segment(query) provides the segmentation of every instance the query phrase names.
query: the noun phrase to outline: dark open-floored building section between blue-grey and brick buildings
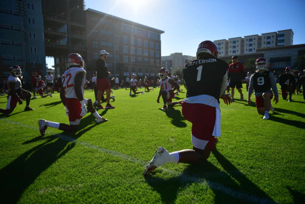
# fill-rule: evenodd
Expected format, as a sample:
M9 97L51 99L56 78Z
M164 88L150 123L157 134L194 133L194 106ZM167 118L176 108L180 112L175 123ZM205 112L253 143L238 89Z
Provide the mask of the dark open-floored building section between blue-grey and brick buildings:
M54 57L55 75L67 69L71 53L87 56L83 0L42 0L45 55ZM86 65L85 65L86 66Z

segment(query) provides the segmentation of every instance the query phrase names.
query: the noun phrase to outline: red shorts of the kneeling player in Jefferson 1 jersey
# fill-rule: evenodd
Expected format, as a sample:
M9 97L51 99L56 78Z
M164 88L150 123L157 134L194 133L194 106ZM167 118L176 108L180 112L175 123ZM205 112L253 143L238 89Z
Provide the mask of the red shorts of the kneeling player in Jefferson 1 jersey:
M216 108L201 103L182 101L182 115L192 123L192 135L197 139L209 141L210 150L214 149L215 137L212 135L216 120Z

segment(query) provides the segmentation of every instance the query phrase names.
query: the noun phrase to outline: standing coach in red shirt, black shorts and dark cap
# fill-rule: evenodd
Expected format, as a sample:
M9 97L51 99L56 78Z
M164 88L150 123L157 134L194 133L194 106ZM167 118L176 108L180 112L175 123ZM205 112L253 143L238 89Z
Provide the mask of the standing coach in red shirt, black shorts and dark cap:
M244 100L244 95L242 94L242 81L246 77L246 72L244 65L237 61L237 56L234 55L232 56L232 64L229 65L229 70L228 70L228 78L230 78L230 88L231 94L232 94L232 101L234 101L234 88L236 86L236 89L240 93L240 100Z

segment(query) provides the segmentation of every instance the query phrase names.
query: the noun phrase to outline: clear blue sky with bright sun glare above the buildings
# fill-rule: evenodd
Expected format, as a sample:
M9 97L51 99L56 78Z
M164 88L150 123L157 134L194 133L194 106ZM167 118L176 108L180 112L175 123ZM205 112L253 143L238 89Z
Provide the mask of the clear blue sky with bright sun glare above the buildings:
M85 0L85 4L86 9L164 31L161 56L175 52L196 56L204 40L287 29L294 32L294 45L305 43L304 0Z

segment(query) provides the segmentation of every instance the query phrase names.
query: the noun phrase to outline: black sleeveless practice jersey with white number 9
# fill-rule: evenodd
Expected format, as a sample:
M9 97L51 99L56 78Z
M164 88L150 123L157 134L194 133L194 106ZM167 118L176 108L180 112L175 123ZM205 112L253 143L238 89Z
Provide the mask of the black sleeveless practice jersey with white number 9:
M253 74L253 82L254 82L254 91L255 92L265 92L271 90L271 83L270 83L270 72L264 71L262 74L260 72L255 72Z

